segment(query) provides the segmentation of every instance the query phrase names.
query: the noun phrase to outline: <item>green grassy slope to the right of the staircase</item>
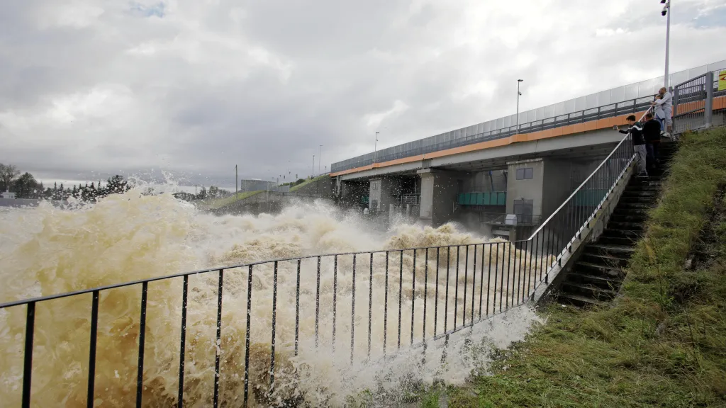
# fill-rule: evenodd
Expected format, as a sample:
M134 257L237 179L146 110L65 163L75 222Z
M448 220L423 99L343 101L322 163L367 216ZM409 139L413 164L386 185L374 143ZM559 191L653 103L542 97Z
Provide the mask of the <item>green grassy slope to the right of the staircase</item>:
M699 243L724 183L726 129L685 135L623 297L596 311L550 306L492 376L446 390L449 407L726 406L726 217ZM696 246L710 264L684 269ZM436 407L436 393L421 405Z

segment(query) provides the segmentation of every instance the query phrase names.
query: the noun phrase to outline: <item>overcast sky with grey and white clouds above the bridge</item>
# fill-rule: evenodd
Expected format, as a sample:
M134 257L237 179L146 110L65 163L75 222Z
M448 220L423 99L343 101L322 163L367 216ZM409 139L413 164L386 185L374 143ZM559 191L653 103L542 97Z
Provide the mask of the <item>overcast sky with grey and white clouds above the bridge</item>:
M662 75L658 0L10 0L0 163L269 179ZM723 0L678 0L672 72L726 59ZM89 174L92 174L89 176Z

